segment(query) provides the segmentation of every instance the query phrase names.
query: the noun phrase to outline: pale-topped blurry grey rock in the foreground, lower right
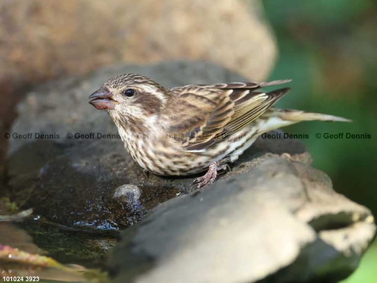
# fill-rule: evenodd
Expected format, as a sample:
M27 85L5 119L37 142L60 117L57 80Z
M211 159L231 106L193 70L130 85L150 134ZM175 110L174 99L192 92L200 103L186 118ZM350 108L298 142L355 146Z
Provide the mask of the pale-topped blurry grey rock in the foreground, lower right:
M166 201L121 233L112 282L337 282L374 238L371 212L307 164L268 158Z

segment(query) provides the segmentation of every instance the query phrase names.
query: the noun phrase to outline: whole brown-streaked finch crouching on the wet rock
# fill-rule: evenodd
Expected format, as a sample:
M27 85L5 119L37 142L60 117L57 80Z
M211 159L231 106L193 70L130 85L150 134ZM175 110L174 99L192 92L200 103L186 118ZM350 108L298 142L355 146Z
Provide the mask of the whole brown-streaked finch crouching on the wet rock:
M107 110L126 151L134 161L164 176L206 171L194 188L213 184L218 171L229 169L258 136L300 121L349 119L272 107L291 88L269 92L264 83L220 83L165 88L138 74L109 79L89 96L98 110Z

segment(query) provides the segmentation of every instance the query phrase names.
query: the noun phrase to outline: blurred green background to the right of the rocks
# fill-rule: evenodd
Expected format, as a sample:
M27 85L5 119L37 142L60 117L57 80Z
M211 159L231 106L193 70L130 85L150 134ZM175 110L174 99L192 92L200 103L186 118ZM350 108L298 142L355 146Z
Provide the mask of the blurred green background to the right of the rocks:
M313 166L334 189L377 215L377 2L264 0L277 37L279 60L270 79L293 79L279 107L331 113L352 123L300 123ZM370 134L371 139L316 139L315 134ZM343 283L377 281L377 242Z

